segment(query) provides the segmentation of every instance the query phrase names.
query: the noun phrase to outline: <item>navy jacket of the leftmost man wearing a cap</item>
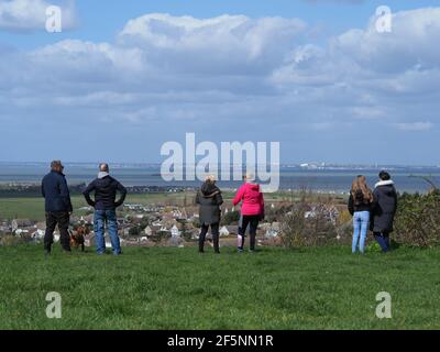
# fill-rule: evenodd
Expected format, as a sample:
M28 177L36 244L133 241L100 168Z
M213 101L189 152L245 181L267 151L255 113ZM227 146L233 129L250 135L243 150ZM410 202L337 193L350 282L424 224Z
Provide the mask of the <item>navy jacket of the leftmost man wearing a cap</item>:
M62 173L51 172L42 182L42 195L46 212L72 212L70 194L66 177Z

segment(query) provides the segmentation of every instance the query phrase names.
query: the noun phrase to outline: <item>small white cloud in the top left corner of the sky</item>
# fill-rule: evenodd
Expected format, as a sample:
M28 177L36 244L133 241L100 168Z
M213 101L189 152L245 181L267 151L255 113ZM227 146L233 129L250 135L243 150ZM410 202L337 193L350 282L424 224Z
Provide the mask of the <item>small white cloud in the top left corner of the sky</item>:
M74 0L0 0L0 31L43 31L46 9L54 4L62 8L63 29L72 29L76 22Z

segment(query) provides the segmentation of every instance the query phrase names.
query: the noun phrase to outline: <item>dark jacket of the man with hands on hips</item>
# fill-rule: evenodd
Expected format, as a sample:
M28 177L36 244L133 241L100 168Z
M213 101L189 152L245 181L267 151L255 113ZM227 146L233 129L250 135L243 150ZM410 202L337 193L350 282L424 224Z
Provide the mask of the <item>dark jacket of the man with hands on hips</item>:
M90 198L90 193L95 191L95 200ZM120 193L120 199L117 201L117 193ZM114 210L122 206L127 189L111 176L95 179L82 193L89 206L95 210Z

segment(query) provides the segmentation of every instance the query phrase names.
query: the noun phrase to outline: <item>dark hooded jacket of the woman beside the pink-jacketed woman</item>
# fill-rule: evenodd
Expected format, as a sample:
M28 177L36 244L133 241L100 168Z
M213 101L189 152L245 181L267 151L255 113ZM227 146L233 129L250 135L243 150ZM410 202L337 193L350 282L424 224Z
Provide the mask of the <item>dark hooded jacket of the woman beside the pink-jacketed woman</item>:
M200 206L199 221L201 226L220 223L220 206L223 204L223 197L218 187L204 184L201 189L197 193L196 204Z

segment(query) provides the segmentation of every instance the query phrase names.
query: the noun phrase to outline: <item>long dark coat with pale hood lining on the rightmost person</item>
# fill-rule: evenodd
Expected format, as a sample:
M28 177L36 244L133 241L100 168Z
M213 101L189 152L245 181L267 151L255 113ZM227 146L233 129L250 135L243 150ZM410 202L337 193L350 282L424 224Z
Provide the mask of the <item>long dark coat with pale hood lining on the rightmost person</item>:
M397 191L393 182L381 182L374 189L372 230L374 232L393 232L394 217L397 211Z

